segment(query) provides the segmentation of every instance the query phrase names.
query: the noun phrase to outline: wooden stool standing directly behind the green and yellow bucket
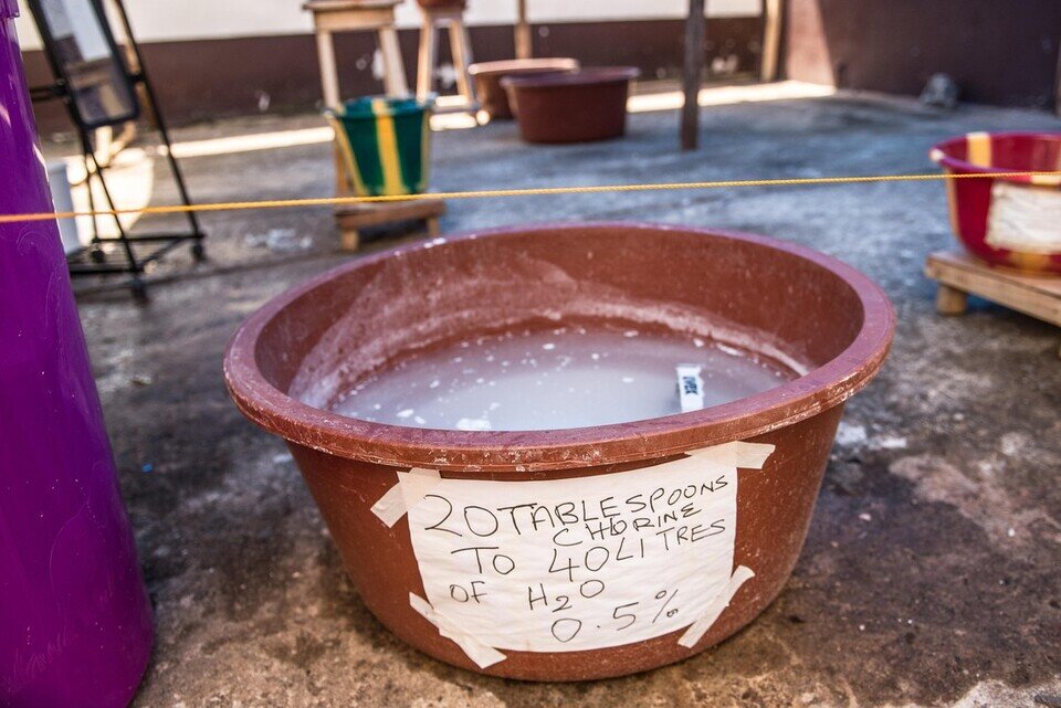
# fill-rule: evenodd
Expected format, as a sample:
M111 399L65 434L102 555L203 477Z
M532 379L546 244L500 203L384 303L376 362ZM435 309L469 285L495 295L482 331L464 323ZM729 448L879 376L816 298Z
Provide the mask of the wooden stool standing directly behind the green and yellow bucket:
M342 102L335 45L332 41L332 35L336 32L375 31L384 60L384 88L387 95L408 95L409 86L406 84L406 70L401 64L398 30L395 27L395 6L400 1L309 0L302 6L304 10L313 13L317 59L321 62L321 87L324 89L326 106L338 108Z

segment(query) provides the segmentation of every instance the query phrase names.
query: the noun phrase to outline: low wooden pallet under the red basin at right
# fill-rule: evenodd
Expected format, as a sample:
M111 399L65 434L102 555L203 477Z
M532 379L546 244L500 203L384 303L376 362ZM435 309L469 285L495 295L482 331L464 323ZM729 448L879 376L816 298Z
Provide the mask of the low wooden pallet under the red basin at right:
M936 310L960 315L969 295L977 295L1061 327L1061 277L1028 275L991 267L965 253L941 251L928 256L925 275L939 284ZM1061 350L1058 351L1061 357Z

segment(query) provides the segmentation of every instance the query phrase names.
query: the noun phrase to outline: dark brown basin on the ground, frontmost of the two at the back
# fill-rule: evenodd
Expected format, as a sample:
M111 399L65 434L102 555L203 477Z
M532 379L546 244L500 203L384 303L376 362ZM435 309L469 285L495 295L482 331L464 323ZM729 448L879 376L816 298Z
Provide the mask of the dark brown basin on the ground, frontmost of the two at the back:
M627 129L633 66L599 66L566 74L508 76L501 85L528 142L589 142Z

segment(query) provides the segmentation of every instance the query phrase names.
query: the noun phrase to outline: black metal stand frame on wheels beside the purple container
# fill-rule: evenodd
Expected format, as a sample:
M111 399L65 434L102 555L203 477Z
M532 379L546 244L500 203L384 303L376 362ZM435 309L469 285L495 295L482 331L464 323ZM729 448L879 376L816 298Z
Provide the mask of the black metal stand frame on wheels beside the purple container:
M140 47L137 44L136 39L133 36L133 29L129 25L129 18L125 11L125 6L123 4L122 0L113 0L113 2L117 10L118 19L122 22L122 30L125 34L126 47L127 52L129 53L128 59L130 66L128 67L128 78L134 88L134 96L136 96L141 104L146 104L144 107L148 109L155 127L158 129L162 145L165 145L166 159L169 163L170 173L174 176L174 182L177 186L177 192L180 196L180 201L186 207L190 207L191 198L188 194L188 188L185 183L183 172L180 170L177 158L174 157L172 144L169 139L169 130L166 127L166 120L162 118L162 113L158 107L158 102L155 97L155 88L151 86L151 82L147 75L147 70L144 66ZM40 21L38 21L38 24L40 24ZM56 65L56 57L53 56L52 53L46 50L46 47L45 54L48 55L49 63L52 66L53 74L55 76L62 76L62 72ZM143 94L140 94L137 88L143 89ZM73 104L73 101L70 97L65 82L61 78L57 78L50 86L34 87L31 89L31 97L33 101L62 98L63 103L66 104L70 117L73 120L74 126L77 128L77 134L81 139L81 150L85 162L85 188L88 190L88 208L93 212L96 212L96 200L92 189L93 180L95 179L99 184L106 202L104 204L104 211L114 211L115 203L111 197L111 190L107 187L107 180L105 177L108 166L101 165L96 160L92 145L92 129L86 127L81 120L81 116L78 115L76 106ZM133 295L139 299L146 298L147 283L144 279L144 274L149 263L158 261L186 241L191 241L191 254L197 263L204 261L207 257L206 249L202 244L202 240L206 239L207 234L202 231L199 224L198 215L192 211L186 212L185 215L188 219L189 230L187 232L149 232L132 235L128 233L125 226L122 225L119 216L117 214L113 214L111 218L114 219L114 224L117 229L118 235L101 236L98 223L99 216L93 213L92 244L87 250L87 255L91 263L78 263L77 261L80 254L72 255L69 261L71 275L78 276L128 273L130 275L129 289L133 292ZM120 245L122 253L124 255L124 262L107 262L106 253L103 251L103 245L107 243L117 243ZM135 246L148 244L161 245L158 245L146 254L137 254Z

